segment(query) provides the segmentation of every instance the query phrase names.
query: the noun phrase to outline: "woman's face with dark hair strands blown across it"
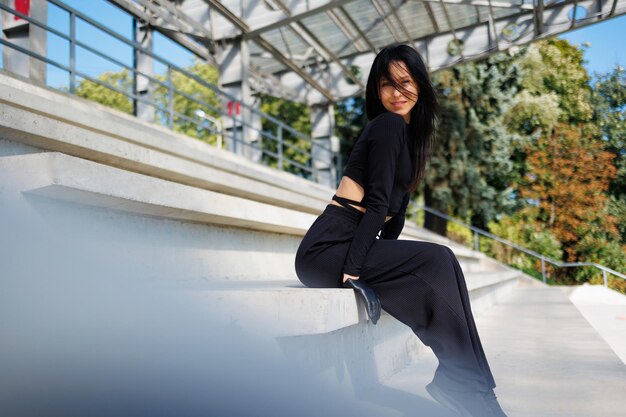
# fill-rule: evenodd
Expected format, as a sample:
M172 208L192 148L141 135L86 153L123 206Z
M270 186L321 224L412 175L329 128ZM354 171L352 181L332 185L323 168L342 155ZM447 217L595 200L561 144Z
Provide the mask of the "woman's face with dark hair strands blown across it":
M389 72L396 83L401 86L401 90L396 89L387 78L381 78L378 86L380 101L388 111L404 117L404 121L408 124L411 121L411 110L417 103L419 94L417 83L411 77L403 61L393 61L389 65Z

